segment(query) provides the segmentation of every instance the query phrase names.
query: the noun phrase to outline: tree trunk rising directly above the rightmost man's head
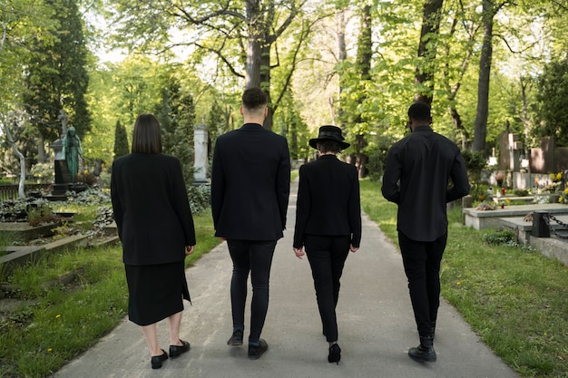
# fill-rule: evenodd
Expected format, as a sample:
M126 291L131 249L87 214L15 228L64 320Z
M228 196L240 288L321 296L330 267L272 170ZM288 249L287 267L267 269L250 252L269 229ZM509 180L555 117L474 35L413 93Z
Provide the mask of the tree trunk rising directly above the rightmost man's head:
M416 67L415 82L426 86L426 89L417 92L415 100L428 104L431 104L433 99L435 72L433 64L436 62L437 43L436 41L432 43L432 38L437 38L440 29L442 5L444 5L444 0L426 0L422 12L422 28L418 44L418 58L421 58L422 63Z

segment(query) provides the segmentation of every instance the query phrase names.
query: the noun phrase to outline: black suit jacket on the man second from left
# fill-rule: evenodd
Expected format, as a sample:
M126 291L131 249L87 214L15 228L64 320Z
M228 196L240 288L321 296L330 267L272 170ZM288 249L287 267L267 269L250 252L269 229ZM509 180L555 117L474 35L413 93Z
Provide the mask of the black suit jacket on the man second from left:
M215 236L240 240L283 237L290 160L286 138L246 123L217 138L211 172Z

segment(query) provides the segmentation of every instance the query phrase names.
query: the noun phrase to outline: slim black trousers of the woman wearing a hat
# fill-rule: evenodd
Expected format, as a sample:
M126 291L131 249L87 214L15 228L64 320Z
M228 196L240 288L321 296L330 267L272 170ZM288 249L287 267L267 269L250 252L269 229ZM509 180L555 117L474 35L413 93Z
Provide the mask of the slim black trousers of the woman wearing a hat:
M349 237L320 237L306 235L304 245L311 274L314 278L319 316L328 342L338 340L336 306L339 279L349 253Z

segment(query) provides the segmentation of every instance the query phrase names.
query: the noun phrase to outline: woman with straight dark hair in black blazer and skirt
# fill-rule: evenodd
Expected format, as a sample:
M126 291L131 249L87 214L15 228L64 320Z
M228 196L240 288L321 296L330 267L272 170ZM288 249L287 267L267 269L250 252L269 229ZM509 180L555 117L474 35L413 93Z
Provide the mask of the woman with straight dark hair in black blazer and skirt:
M190 300L184 259L195 230L180 160L162 154L160 123L141 114L134 123L132 153L113 161L113 214L122 241L128 284L128 316L142 328L152 369L168 359L156 323L168 318L170 357L190 350L180 340L183 299Z

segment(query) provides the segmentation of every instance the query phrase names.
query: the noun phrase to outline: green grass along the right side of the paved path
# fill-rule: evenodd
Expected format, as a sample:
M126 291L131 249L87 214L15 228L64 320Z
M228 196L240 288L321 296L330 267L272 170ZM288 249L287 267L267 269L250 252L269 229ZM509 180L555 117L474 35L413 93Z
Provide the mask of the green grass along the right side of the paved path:
M361 203L397 245L397 206L380 185L361 181ZM568 377L568 267L526 247L490 246L448 214L442 296L495 354L523 377Z

